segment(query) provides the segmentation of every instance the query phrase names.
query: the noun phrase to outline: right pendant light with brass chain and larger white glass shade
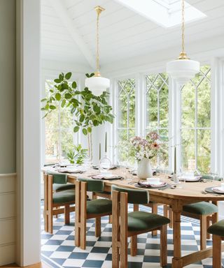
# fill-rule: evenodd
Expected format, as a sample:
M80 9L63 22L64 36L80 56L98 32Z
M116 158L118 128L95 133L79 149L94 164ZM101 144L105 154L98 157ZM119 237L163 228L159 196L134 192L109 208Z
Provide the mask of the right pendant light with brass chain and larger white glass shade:
M179 84L186 84L196 73L200 72L200 63L198 61L190 60L185 52L184 45L184 31L185 31L185 20L184 20L184 0L182 0L182 52L178 59L175 61L169 61L167 63L167 73L176 80Z

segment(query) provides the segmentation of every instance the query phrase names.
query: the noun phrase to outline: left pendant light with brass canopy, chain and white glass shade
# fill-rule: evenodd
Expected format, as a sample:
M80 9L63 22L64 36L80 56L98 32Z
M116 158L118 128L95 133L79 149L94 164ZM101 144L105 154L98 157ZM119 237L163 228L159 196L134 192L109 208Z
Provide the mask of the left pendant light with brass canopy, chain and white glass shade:
M99 15L105 9L101 6L96 6L94 10L97 11L97 71L93 77L85 79L85 87L92 91L95 96L100 96L106 89L110 87L110 80L102 77L99 73Z

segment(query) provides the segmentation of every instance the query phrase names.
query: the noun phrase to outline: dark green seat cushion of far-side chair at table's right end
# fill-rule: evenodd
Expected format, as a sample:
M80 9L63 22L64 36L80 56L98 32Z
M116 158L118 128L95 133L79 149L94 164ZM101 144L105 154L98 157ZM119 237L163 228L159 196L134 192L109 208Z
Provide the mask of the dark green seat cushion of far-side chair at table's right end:
M194 204L186 204L183 206L183 211L199 215L210 215L218 212L218 207L209 202L198 202Z

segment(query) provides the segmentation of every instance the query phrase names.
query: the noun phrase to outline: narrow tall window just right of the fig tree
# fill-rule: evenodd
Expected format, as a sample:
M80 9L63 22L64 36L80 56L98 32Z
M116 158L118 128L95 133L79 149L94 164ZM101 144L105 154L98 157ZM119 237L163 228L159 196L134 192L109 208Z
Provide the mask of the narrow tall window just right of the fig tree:
M133 161L128 141L135 135L135 80L118 81L117 137L118 162Z

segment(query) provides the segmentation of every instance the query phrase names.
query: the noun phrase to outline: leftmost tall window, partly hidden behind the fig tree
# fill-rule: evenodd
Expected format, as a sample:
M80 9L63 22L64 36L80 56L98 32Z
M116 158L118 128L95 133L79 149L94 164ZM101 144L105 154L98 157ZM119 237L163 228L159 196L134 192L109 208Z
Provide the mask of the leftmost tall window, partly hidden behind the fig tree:
M54 87L52 80L45 80L46 95ZM73 114L68 108L58 107L45 117L45 164L63 161L75 142Z

